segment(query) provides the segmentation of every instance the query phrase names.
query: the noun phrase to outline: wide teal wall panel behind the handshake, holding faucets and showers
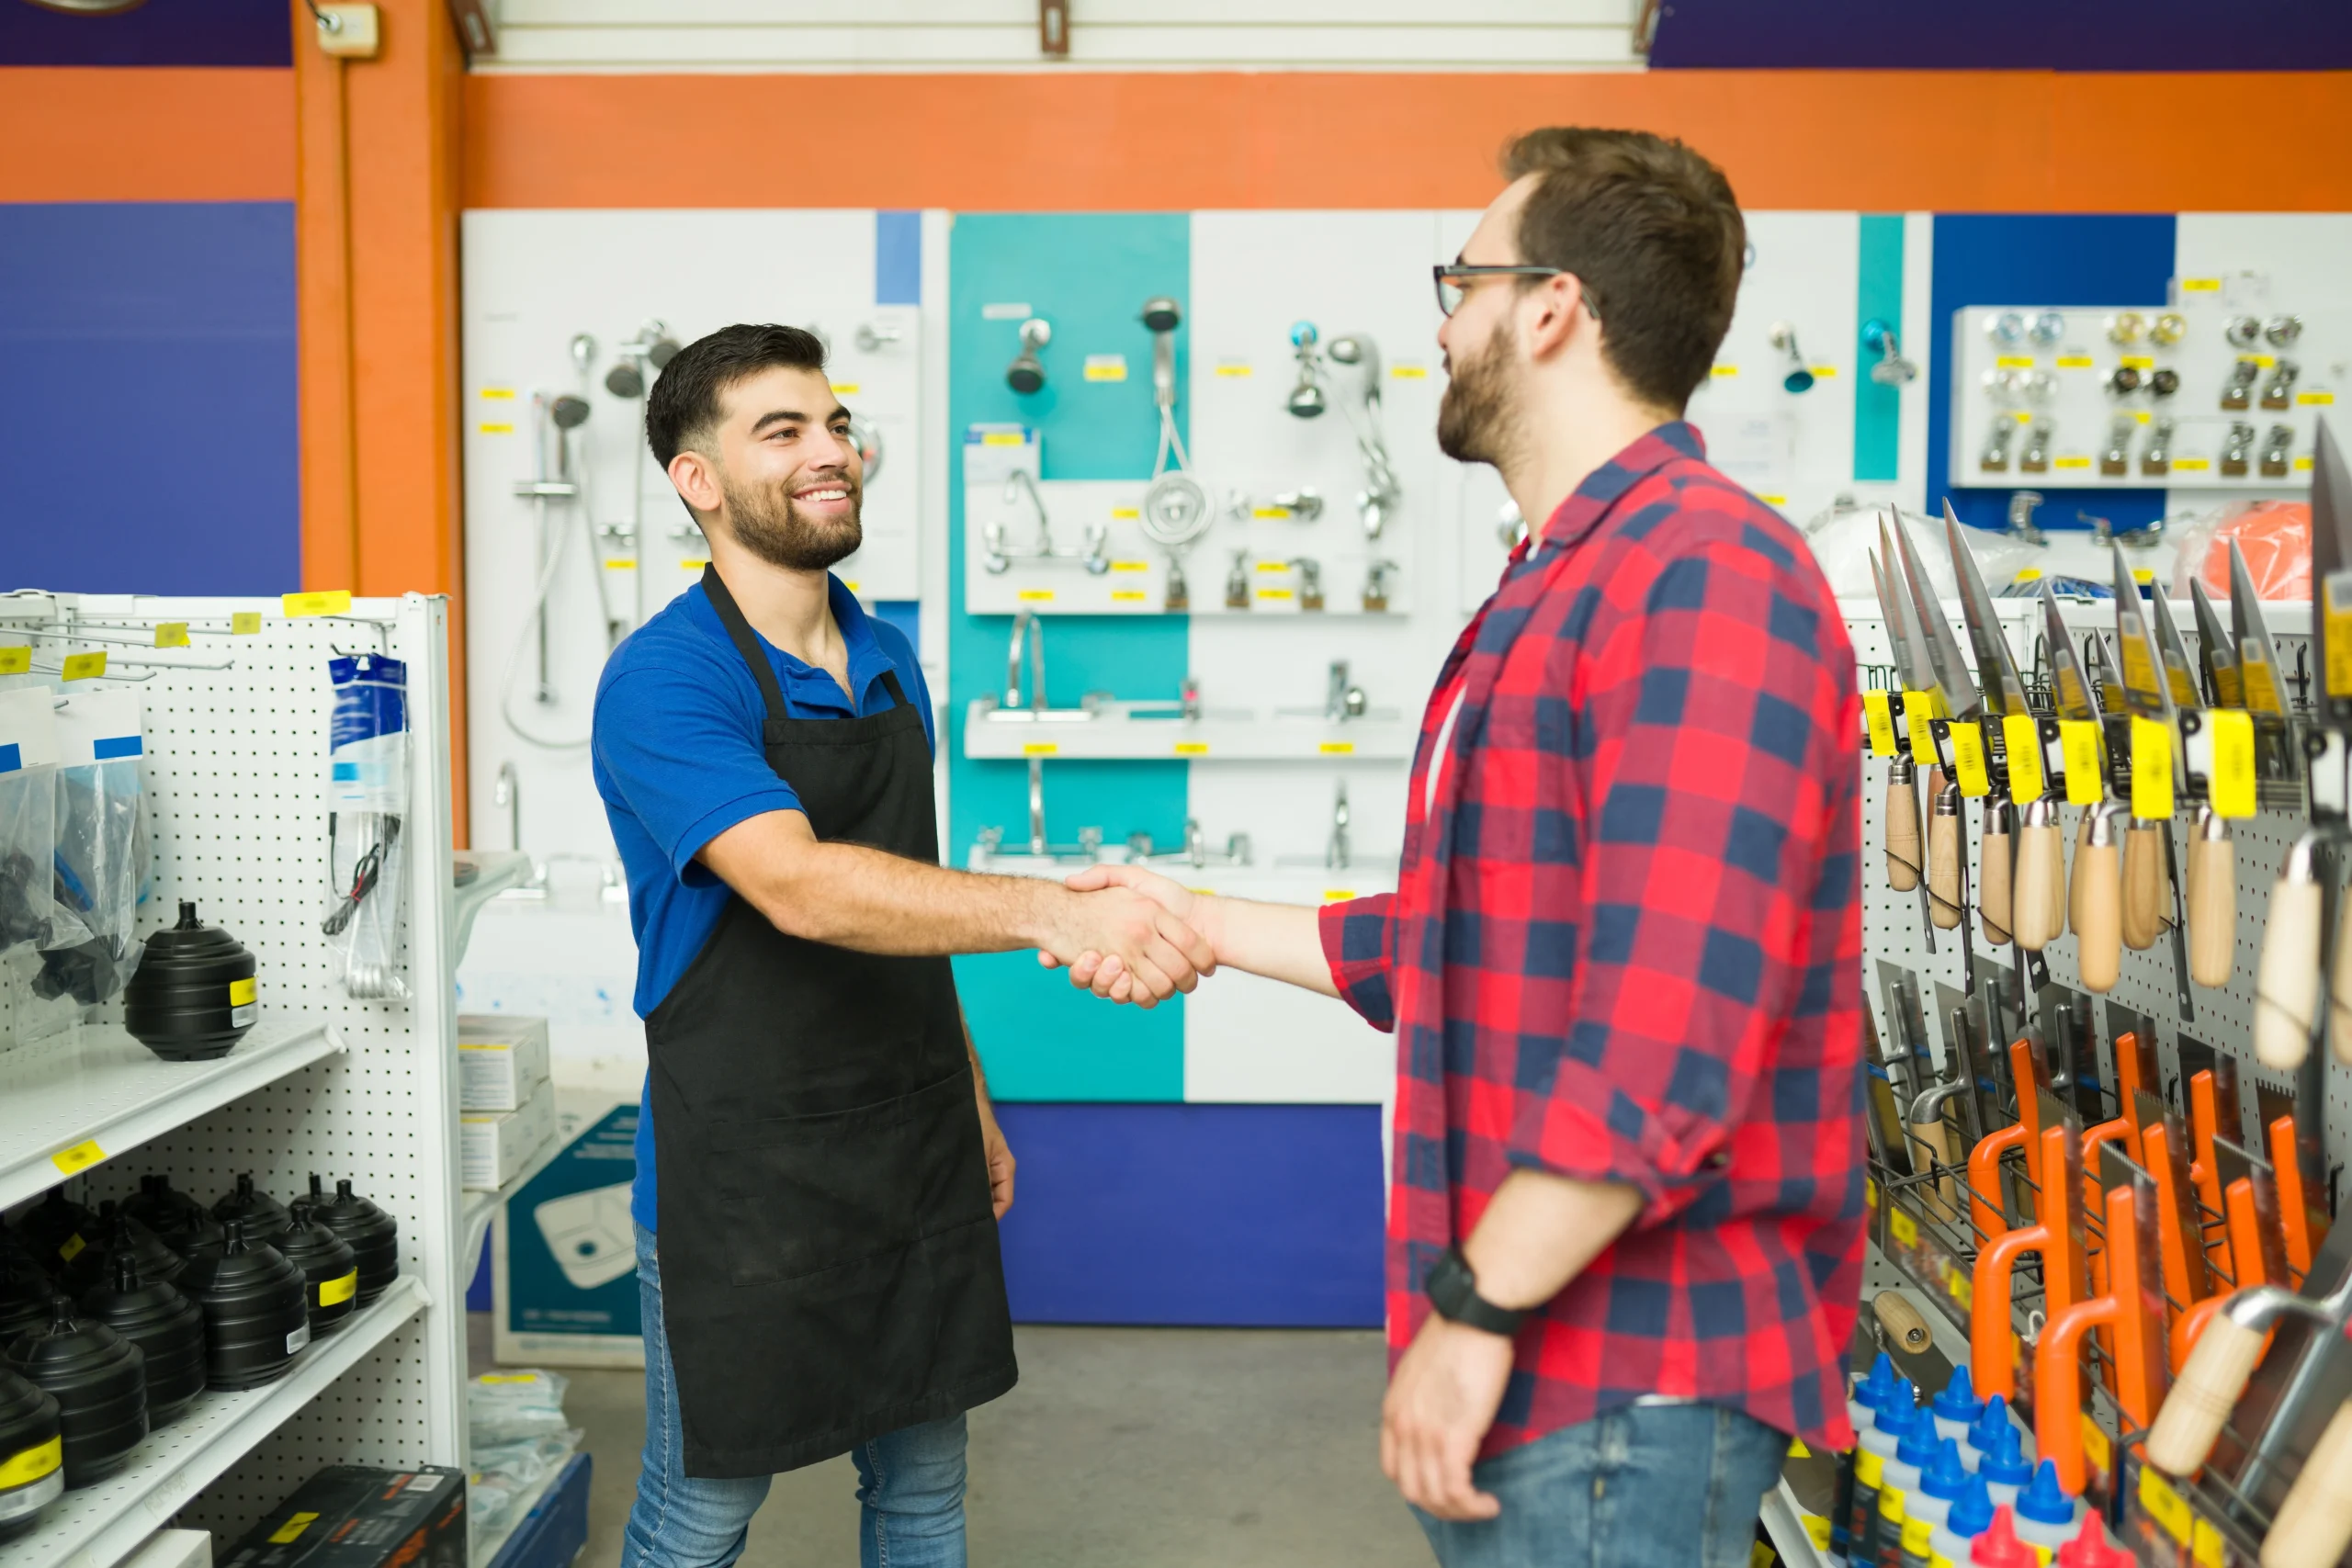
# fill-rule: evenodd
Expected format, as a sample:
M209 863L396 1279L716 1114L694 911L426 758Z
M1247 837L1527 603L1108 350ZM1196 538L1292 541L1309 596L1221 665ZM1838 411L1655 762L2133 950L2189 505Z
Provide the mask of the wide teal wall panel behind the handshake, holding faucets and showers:
M1160 423L1152 339L1138 317L1152 294L1190 310L1190 214L960 214L948 259L948 425L957 451L967 425L1018 421L1042 433L1047 480L1148 477ZM1004 386L1021 322L983 315L1016 301L1054 322L1047 386L1030 397ZM1178 329L1178 386L1188 341L1190 329ZM1124 355L1127 381L1087 381L1087 355ZM1028 766L964 757L964 705L1002 689L1011 616L964 614L960 458L948 475L948 853L960 865L981 827L1004 827L1009 842L1028 832ZM1174 696L1190 665L1183 616L1047 616L1044 628L1044 684L1056 705L1084 691ZM1185 771L1183 762L1049 762L1054 842L1075 842L1080 827L1101 827L1108 842L1129 832L1181 842ZM1181 997L1150 1013L1112 1009L1025 952L957 959L955 978L997 1095L1183 1098Z

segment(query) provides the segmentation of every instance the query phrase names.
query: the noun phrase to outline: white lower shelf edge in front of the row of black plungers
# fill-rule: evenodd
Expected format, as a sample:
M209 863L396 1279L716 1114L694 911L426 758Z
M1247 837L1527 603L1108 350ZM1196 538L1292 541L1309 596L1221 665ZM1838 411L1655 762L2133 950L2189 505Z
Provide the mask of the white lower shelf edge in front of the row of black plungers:
M143 1462L134 1450L125 1469L49 1505L78 1514L75 1502L103 1500L111 1505L106 1519L68 1516L49 1526L35 1523L28 1535L0 1547L0 1568L111 1568L120 1563L155 1530L172 1523L172 1516L188 1500L221 1479L261 1439L318 1399L329 1382L358 1366L360 1356L428 1305L423 1284L402 1274L341 1333L315 1342L278 1382L240 1394L202 1394L174 1425L146 1439L146 1443L172 1441L186 1436L191 1422L209 1422L214 1429L202 1443L186 1450L174 1443Z

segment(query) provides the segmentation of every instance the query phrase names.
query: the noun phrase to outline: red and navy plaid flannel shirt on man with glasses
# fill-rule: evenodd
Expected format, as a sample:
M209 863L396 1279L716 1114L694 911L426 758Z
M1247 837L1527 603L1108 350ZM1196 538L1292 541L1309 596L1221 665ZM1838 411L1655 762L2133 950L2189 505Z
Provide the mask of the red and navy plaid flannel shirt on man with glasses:
M1397 1030L1390 1359L1515 1166L1623 1182L1639 1218L1519 1328L1482 1455L1644 1394L1851 1446L1844 621L1797 529L1686 423L1597 468L1531 545L1421 719L1399 891L1322 912L1341 994Z

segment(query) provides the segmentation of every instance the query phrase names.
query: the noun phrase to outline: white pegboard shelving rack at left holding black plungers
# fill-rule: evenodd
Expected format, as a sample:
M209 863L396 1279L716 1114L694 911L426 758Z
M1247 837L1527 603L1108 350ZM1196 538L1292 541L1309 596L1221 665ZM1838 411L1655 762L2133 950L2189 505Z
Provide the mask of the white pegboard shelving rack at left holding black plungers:
M198 1396L115 1476L0 1544L0 1568L108 1568L174 1521L226 1547L322 1465L466 1462L447 602L289 614L303 597L0 599L0 644L31 642L35 670L103 649L101 679L141 693L153 851L141 933L193 898L261 966L261 1023L212 1063L158 1060L120 1030L120 1004L96 1025L24 1039L33 1011L0 983L0 1204L64 1182L94 1206L143 1173L202 1199L247 1171L282 1199L310 1173L348 1178L400 1222L400 1279L278 1382ZM256 632L233 630L256 611ZM158 646L174 642L158 639L172 623L188 642ZM355 651L407 663L405 1001L346 997L320 936L327 661Z

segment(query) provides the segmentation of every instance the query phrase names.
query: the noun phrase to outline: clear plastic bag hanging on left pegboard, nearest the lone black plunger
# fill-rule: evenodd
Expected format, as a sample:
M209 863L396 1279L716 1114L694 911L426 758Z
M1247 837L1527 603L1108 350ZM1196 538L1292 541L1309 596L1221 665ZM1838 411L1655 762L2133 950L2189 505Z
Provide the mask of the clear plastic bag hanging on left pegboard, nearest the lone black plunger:
M56 914L33 990L99 1006L139 966L151 867L136 691L75 691L56 710Z

